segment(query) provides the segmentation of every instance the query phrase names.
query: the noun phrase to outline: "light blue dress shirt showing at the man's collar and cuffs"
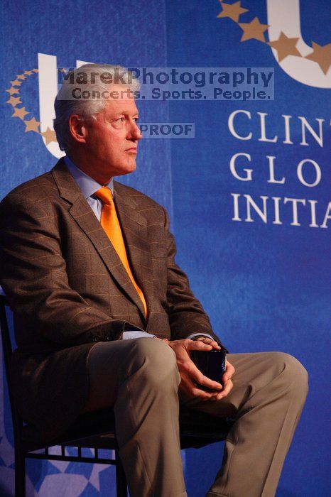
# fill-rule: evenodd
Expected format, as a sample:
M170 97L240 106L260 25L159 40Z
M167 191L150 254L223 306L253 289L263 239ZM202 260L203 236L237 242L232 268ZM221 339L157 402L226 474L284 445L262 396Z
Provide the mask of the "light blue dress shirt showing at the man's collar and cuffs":
M72 175L72 178L74 178L75 182L77 182L77 185L80 187L80 190L82 190L82 194L87 200L87 203L91 207L94 214L97 216L98 221L100 221L102 212L102 201L99 200L99 198L94 197L94 193L97 192L97 190L99 190L99 188L101 188L102 186L107 186L110 190L112 190L112 193L114 194L113 178L109 181L109 183L107 183L107 185L100 185L97 181L95 181L93 178L90 178L90 176L80 170L80 168L77 168L77 165L72 162L68 155L65 155L64 160L65 165ZM141 332L139 329L132 329L123 333L123 340L143 337L154 338L156 337L156 335L147 332ZM197 337L208 337L213 340L213 338L206 333L193 333L190 334L188 338L195 339Z

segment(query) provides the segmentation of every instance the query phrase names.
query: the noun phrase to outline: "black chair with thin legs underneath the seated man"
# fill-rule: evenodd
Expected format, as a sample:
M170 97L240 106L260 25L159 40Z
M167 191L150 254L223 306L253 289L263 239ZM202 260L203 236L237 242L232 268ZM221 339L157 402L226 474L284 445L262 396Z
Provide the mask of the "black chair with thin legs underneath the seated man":
M121 459L119 459L112 409L102 409L94 413L80 415L63 435L47 443L38 441L40 436L37 430L33 426L24 423L21 419L11 391L9 364L12 347L6 307L9 307L6 297L0 295L0 329L13 420L15 496L26 496L26 459L49 459L114 464L116 466L116 495L117 497L127 497L126 476ZM234 420L229 418L220 419L197 411L192 413L190 409L181 408L180 446L182 449L198 448L224 440L233 422ZM54 446L60 446L60 454L50 454L49 449ZM65 447L76 447L77 455L67 455ZM94 457L85 457L82 454L83 448L94 449ZM114 450L115 458L99 457L99 449Z

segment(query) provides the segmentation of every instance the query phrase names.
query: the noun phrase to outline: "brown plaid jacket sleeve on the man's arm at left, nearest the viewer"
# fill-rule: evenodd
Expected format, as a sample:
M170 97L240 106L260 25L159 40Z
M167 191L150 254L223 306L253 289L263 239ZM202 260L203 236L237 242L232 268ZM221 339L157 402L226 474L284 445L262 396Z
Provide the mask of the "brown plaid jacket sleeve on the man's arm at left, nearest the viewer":
M133 327L100 312L70 288L57 216L41 202L18 194L1 202L0 263L6 297L36 337L75 346L119 339L126 327Z

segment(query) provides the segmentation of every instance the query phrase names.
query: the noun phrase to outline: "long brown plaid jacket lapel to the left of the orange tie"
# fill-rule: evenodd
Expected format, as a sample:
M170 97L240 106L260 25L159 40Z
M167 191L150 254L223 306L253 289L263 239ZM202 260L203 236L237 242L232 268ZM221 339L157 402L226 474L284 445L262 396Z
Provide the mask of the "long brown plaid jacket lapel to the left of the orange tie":
M59 160L58 164L55 165L52 174L58 185L60 196L72 204L69 209L71 216L75 219L75 222L77 222L82 231L85 232L86 236L88 236L108 270L114 276L116 282L136 306L139 307L139 310L144 317L143 303L126 272L126 269L121 263L119 256L109 241L109 238L97 217L95 217L94 212L82 195L80 188L67 170L63 160Z

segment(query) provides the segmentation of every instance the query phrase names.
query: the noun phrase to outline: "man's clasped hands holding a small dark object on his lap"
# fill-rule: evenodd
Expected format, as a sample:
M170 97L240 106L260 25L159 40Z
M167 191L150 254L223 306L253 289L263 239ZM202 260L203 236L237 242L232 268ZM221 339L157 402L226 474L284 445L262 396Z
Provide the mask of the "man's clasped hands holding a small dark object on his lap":
M205 340L215 343L218 348L219 345L206 337L201 338L203 338L203 340L174 340L173 342L168 342L168 345L171 349L173 349L177 357L178 371L180 372L180 377L182 378L179 386L180 391L185 393L185 395L189 398L199 397L202 400L209 400L210 398L215 398L216 395L222 391L222 385L217 381L212 381L210 378L207 378L207 376L202 374L202 372L191 360L190 350L212 350L214 348L212 344L204 343ZM211 388L212 390L215 390L215 392L201 390L196 383L199 383L207 388Z

